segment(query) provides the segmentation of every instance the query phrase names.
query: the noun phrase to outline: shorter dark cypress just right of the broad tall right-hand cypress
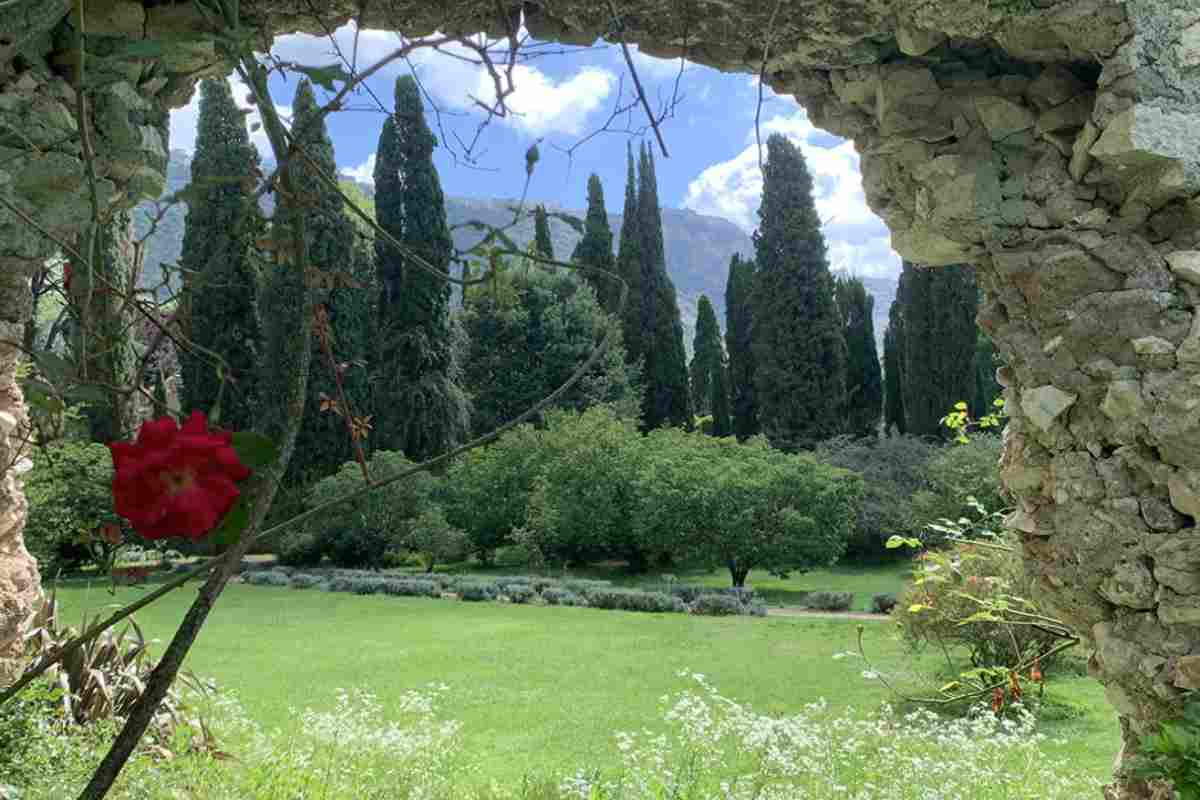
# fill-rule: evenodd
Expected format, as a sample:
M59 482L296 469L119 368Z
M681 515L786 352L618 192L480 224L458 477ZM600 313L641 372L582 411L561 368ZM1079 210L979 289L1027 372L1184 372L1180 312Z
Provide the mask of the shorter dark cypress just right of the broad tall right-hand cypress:
M835 285L846 338L846 431L871 437L883 410L883 374L871 320L875 297L860 278L839 278Z

